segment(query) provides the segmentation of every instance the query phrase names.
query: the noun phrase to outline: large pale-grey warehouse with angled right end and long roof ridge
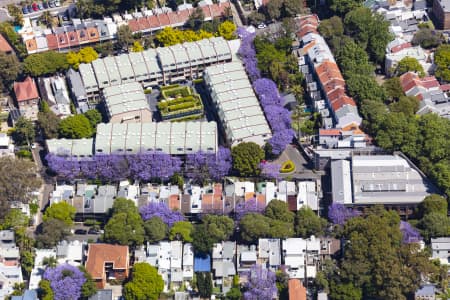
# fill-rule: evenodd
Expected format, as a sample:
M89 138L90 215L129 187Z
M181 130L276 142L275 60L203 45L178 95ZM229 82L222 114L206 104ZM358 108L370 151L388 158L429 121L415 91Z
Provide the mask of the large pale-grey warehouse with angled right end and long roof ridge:
M426 178L399 155L355 155L331 162L333 202L418 204L433 192Z

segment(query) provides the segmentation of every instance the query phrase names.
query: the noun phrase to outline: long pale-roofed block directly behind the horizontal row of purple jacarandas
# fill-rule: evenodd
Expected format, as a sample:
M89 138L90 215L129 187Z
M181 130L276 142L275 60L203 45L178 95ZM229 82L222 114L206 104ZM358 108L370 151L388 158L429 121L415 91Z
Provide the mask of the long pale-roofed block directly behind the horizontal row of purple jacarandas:
M100 123L95 139L49 139L49 153L73 158L95 154L164 152L186 155L218 150L216 122Z

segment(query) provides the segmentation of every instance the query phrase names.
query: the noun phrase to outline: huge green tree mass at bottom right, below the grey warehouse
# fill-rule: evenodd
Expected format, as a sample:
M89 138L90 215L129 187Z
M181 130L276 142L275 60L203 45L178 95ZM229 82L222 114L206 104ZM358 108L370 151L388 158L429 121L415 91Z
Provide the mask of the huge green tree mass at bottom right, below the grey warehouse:
M417 244L402 243L399 223L396 212L382 207L347 221L346 250L336 271L339 276L332 280L331 298L405 300L417 290L422 276L434 272L426 252Z

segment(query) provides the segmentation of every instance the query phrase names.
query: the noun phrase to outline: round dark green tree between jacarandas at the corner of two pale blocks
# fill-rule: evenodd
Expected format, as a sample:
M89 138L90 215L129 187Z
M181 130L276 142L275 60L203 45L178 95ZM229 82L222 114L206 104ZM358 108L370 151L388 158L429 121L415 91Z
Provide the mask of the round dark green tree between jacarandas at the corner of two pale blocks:
M240 143L231 149L233 168L241 176L257 176L260 173L259 164L264 159L264 151L253 142Z

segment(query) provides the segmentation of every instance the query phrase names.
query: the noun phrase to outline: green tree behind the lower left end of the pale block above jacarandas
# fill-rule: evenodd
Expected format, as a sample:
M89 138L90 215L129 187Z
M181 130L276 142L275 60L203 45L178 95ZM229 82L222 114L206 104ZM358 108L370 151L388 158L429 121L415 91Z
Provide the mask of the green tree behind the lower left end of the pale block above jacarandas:
M60 138L81 139L91 137L92 126L84 115L75 115L61 120L58 133Z

